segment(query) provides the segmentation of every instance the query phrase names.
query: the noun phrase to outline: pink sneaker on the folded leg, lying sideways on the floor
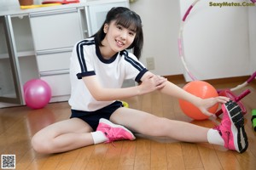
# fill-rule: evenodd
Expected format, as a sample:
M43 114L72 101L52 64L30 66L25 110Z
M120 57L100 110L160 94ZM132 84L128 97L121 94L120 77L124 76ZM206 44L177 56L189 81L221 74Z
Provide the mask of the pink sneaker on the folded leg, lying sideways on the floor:
M106 143L110 143L115 140L136 139L133 133L131 133L131 131L127 128L121 125L113 124L113 122L109 122L107 119L103 118L100 119L96 131L102 131L102 133L106 135L106 137L108 138L108 141L106 141Z

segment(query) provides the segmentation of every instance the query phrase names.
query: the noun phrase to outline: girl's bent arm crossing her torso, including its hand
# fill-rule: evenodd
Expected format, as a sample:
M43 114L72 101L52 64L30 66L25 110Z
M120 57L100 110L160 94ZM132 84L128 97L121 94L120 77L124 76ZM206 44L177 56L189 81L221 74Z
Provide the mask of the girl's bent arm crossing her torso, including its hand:
M114 99L125 99L141 94L147 94L154 90L163 88L166 78L155 76L150 72L146 72L142 77L142 83L139 86L130 88L103 88L96 76L83 77L86 87L90 94L99 101L107 101Z

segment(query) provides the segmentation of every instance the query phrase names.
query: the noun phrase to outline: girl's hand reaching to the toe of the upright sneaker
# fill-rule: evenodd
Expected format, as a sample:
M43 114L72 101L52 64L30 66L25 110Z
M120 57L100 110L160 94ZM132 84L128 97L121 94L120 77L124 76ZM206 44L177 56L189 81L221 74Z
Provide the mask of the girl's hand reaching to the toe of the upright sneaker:
M201 102L199 103L199 105L197 106L200 111L205 114L206 116L209 116L210 118L216 118L216 116L214 114L212 114L211 112L208 111L208 109L210 107L212 107L213 105L216 105L218 103L224 104L226 102L228 102L230 99L224 96L218 96L215 98L208 98L208 99L201 99Z

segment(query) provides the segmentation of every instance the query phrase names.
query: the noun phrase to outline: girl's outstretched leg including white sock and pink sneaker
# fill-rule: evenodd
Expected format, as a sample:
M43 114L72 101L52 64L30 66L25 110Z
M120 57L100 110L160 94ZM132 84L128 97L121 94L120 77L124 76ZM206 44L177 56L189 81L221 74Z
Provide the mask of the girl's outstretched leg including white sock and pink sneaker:
M235 102L230 101L223 104L222 109L224 111L222 122L215 128L169 120L128 108L120 108L115 111L111 120L124 125L135 133L157 137L165 136L183 142L208 142L242 153L247 150L248 142L241 108Z

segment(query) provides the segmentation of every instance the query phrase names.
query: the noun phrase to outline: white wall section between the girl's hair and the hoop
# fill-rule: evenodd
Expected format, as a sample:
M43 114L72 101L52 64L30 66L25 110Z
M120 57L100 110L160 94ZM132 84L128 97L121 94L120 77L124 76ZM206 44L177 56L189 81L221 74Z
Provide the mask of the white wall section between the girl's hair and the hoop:
M179 2L170 0L137 0L130 7L143 20L144 46L141 61L154 57L155 74L182 74L178 57L177 36L180 23Z

